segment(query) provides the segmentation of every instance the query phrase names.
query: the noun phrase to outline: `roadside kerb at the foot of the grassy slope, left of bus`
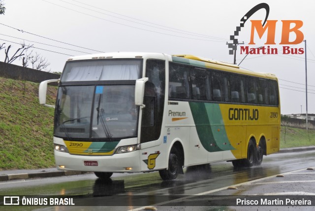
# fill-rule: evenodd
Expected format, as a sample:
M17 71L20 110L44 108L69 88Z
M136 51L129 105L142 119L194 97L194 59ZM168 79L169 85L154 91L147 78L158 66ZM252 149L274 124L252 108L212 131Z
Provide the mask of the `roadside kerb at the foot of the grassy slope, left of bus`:
M26 170L29 171L29 170ZM73 176L73 175L85 175L90 172L79 172L79 171L42 171L35 173L20 173L20 174L1 174L0 181L17 180L17 179L30 179L30 178L45 178L45 177L57 177L57 176Z

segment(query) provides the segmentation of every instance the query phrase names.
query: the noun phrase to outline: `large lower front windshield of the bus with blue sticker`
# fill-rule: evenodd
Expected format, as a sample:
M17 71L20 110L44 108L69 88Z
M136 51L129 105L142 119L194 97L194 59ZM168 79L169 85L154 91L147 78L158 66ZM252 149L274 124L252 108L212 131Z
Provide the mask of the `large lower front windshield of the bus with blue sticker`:
M55 111L56 137L123 139L136 137L139 108L134 85L61 86Z

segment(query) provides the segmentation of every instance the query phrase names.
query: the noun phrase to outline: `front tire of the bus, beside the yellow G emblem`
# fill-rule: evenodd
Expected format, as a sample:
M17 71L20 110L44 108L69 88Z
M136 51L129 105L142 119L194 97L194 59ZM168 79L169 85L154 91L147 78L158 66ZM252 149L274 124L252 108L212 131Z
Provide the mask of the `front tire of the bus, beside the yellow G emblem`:
M180 166L180 155L179 152L177 150L177 148L173 147L171 149L171 152L169 153L169 157L168 157L168 168L167 169L162 169L159 170L159 176L163 179L163 180L172 180L172 179L176 179L176 177L178 176L179 172L180 172L180 168L182 168Z

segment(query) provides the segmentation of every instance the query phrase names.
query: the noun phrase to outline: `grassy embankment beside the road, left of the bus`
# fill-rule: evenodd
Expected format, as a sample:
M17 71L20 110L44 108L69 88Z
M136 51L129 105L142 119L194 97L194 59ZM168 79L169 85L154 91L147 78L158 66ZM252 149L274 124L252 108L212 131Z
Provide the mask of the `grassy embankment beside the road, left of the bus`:
M54 109L38 103L38 83L0 77L0 170L53 167ZM57 87L48 87L54 104Z

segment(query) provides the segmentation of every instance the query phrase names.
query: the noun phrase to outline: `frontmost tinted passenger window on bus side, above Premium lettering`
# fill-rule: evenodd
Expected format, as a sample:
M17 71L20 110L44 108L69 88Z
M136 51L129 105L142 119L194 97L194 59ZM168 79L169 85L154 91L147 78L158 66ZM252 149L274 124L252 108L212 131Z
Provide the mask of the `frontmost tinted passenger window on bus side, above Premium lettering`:
M175 99L189 99L189 66L170 63L168 96Z

